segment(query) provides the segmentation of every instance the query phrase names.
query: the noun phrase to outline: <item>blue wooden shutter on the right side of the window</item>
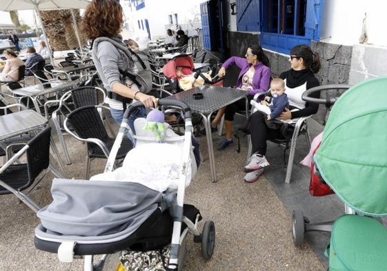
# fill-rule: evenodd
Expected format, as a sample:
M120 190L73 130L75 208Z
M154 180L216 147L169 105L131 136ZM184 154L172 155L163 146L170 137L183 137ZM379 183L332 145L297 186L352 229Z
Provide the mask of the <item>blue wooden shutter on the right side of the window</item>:
M308 0L306 3L305 37L320 40L323 0Z

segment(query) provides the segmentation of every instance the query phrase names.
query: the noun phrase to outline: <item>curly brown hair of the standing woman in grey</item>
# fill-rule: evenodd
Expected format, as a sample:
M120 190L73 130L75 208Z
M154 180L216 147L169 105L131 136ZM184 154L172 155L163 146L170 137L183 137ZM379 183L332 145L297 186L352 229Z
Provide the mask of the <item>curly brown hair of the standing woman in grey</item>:
M113 37L121 32L122 8L116 0L92 0L82 18L83 32L89 39Z

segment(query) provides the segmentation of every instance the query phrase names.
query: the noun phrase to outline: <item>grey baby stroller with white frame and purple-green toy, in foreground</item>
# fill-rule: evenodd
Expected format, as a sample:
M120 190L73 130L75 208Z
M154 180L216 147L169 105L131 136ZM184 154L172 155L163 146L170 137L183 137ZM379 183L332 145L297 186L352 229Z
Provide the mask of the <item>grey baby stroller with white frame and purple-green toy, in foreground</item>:
M163 185L159 185L151 174L148 179L151 179L150 181L157 186L159 191L155 186L148 187L147 183L141 183L138 179L136 179L137 182L115 181L109 178L105 178L105 181L54 179L52 182L54 200L38 213L41 224L35 230L36 248L57 253L61 261L72 261L77 255L83 256L84 269L91 271L102 270L106 259L105 255L101 261L93 265L92 255L112 254L121 250L159 250L170 244L170 259L166 270L181 270L186 236L191 233L194 235L194 241L201 243L204 258L212 257L215 247L214 223L206 221L200 233L198 230L198 222L201 220L199 210L193 205L183 204L185 187L190 181L188 181L190 172L193 172L196 163L191 153L190 108L180 101L160 100L159 105L175 106L181 109L185 120L184 135L165 137L163 139L165 142L157 143L155 134L152 134L151 137L147 134L137 134L135 136L136 147L128 153L127 158L137 148L141 151L145 150L141 149L141 146L146 145L151 145L151 148L154 149L152 153L145 153L146 155L142 157L153 157L152 154L156 154L157 148L161 147L168 150L170 146L172 152L175 152L177 145L170 143L177 142L182 146L179 152L181 154L178 160L179 165L163 165L170 167L167 168L168 172L177 172L177 180L174 180L175 186L164 190L161 188ZM127 119L130 113L140 106L143 106L142 103L137 102L126 109L106 163L106 174L112 174L119 145L130 132L126 123ZM141 157L137 156L139 152L137 151L135 156L131 155L131 158L128 159L129 165L135 162L137 165L141 163ZM168 157L170 153L171 151L164 152L163 156ZM133 157L138 161L133 161ZM123 166L125 163L126 161L123 162ZM144 166L145 163L148 161L143 162ZM154 168L159 170L160 167L156 165ZM126 171L126 177L135 178L134 171ZM163 191L160 192L161 190Z

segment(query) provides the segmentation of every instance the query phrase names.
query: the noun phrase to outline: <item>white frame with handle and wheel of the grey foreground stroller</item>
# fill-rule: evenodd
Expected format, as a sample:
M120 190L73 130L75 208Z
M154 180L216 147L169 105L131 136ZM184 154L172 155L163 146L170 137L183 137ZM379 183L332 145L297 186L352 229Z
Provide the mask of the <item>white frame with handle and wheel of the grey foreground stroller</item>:
M132 105L128 106L125 113L123 114L123 121L121 123L121 126L119 128L119 132L117 134L117 138L115 140L114 145L112 146L112 150L110 151L110 155L108 157L108 161L106 163L105 172L111 172L114 170L115 165L115 156L117 155L117 151L119 150L119 146L121 145L121 141L123 140L123 137L128 136L128 132L130 131L130 127L128 126L128 116L130 116L130 112L135 110L136 108L139 108L143 106L142 103L132 103ZM172 229L172 242L170 245L170 260L168 263L168 267L166 270L181 270L182 269L182 260L183 260L183 254L185 250L185 238L188 232L194 235L194 241L195 243L201 243L201 249L202 253L205 259L210 259L212 257L212 252L215 247L215 225L212 221L206 221L204 224L204 228L202 230L202 233L198 230L198 222L201 220L201 215L198 212L196 215L195 223L188 219L188 217L184 217L183 215L183 200L184 200L184 192L185 192L185 186L186 186L186 178L188 174L188 166L190 163L190 152L191 152L191 141L192 141L192 123L191 123L191 111L188 106L186 106L185 103L181 101L175 101L175 100L159 100L159 106L176 106L178 108L181 108L185 120L185 133L183 135L184 143L183 143L183 157L181 159L181 170L179 172L179 184L177 188L177 192L169 192L167 194L163 194L162 200L161 200L161 210L166 210L168 208L170 215L173 219L173 229ZM181 137L180 137L181 138ZM155 138L152 139L154 141ZM172 139L176 140L176 139ZM193 219L192 219L193 220ZM181 232L181 223L185 223L187 227ZM52 246L59 245L59 248L57 250L59 260L61 261L72 261L74 259L75 254L75 246L79 243L83 244L83 249L85 249L85 246L87 247L88 244L92 245L98 245L101 243L109 243L121 241L122 239L126 239L128 237L128 232L125 232L123 230L123 238L120 239L119 236L116 234L112 234L115 237L109 238L108 237L88 237L88 239L84 239L83 241L77 240L75 235L67 235L67 236L61 236L60 238L57 238L56 236L50 237L49 235L46 235L46 232L41 231L44 227L42 225L39 225L37 227L37 230L35 230L35 245L38 249L45 250L48 252L56 252L52 251ZM118 233L120 234L120 232ZM70 241L66 240L70 239ZM95 239L93 241L93 238ZM105 238L105 239L103 239ZM97 240L97 241L96 241ZM41 241L41 244L39 245L39 241ZM44 243L46 242L46 243ZM54 245L52 245L54 243ZM45 248L43 245L50 246L51 248ZM130 245L130 244L129 244ZM112 245L114 247L114 245ZM104 248L103 248L104 249ZM108 251L103 252L107 254L112 254L114 252L117 252L119 250L123 250L125 248L119 248L117 250L117 247L114 248L115 251ZM87 250L87 249L86 249ZM183 252L183 253L181 253ZM98 253L98 254L103 254ZM93 255L90 254L82 254L84 258L84 270L85 271L95 271L95 270L102 270L104 261L107 257L106 255L103 255L101 260L96 264L93 265Z

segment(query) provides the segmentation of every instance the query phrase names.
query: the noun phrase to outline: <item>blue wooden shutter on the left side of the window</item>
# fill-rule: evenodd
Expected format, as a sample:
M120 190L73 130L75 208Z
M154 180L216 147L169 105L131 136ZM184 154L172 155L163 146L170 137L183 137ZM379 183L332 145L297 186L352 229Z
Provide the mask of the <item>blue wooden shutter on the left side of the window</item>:
M237 30L238 31L260 31L259 29L259 1L238 0L237 1Z

